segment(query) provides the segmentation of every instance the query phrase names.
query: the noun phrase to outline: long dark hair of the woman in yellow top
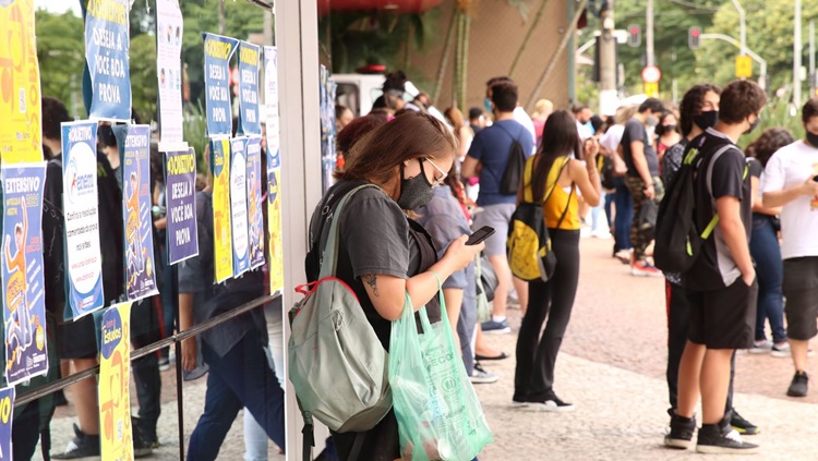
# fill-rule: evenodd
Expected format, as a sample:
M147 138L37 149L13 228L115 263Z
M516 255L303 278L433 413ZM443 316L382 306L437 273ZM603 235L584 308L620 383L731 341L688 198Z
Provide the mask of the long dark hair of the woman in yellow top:
M557 110L549 116L542 130L542 144L534 159L534 171L531 178L531 189L536 201L545 198L549 171L557 158L563 156L581 158L577 119L566 110Z

